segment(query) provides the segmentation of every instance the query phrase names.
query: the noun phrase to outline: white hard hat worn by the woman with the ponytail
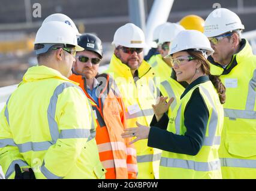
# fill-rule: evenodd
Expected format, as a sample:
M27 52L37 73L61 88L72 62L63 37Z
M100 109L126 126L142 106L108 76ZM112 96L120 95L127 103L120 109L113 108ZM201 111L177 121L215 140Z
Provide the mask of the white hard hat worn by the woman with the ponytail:
M177 34L171 43L170 53L174 54L183 50L201 51L207 56L213 54L214 50L210 47L210 41L198 30L183 30Z

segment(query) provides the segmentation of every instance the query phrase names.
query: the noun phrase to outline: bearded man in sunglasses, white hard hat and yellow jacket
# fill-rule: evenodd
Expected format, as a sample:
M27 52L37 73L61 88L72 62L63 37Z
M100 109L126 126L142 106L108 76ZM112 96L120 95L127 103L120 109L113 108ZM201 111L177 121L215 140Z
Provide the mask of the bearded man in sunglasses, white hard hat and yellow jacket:
M155 71L143 60L144 33L135 24L127 23L116 30L112 44L115 53L107 72L121 92L128 127L137 127L137 122L149 125L158 91L153 81ZM158 178L161 150L147 147L146 141L138 141L134 146L138 178Z

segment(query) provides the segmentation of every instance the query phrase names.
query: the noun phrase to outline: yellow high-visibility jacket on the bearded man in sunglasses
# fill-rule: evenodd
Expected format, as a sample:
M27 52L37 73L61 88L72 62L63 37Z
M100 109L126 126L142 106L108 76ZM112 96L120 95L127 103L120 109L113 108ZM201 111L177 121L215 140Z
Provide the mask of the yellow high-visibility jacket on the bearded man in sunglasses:
M155 72L143 60L138 67L138 79L134 82L131 69L113 55L107 70L118 85L125 104L125 119L128 127L137 127L135 122L149 126L153 117L157 91L153 77ZM137 151L138 178L158 178L161 150L147 147L147 140L134 143Z

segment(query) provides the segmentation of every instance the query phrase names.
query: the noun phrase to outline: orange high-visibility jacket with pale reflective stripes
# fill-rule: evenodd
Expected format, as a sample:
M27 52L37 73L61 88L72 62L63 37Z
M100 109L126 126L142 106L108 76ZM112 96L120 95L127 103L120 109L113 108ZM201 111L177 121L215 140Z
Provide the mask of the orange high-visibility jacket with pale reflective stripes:
M99 106L87 93L86 79L80 75L71 75L72 81L78 82L92 104L97 121L96 142L106 178L137 178L136 150L131 139L122 138L125 122L125 107L119 96L115 82L107 74L97 76L100 85L97 87ZM114 88L115 87L115 88Z

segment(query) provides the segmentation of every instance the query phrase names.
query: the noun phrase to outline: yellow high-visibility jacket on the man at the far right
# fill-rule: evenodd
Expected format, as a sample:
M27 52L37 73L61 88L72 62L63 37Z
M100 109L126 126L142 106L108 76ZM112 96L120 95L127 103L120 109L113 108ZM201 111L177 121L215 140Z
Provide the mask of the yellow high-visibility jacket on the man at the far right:
M256 178L256 57L242 39L239 53L224 71L211 64L226 87L219 157L223 178Z

